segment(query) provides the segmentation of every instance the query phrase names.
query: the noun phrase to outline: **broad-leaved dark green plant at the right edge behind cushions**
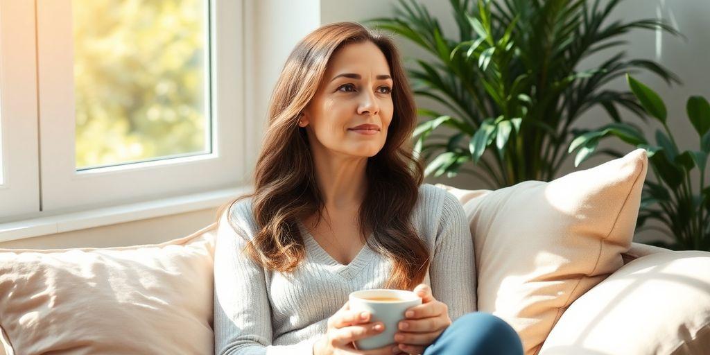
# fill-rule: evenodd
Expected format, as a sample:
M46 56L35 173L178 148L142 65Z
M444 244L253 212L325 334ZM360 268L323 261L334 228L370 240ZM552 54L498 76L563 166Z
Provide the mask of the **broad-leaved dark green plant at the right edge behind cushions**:
M578 151L577 164L596 153L599 141L606 137L645 148L655 181L646 180L643 186L637 230L657 229L674 240L672 243L653 241L651 244L670 249L698 249L710 251L710 187L705 186L705 170L710 155L710 104L704 97L690 97L686 104L688 118L698 133L699 150L680 152L668 128L667 111L663 100L652 89L627 76L633 94L645 111L662 129L655 132L655 144L640 131L627 124L602 126L586 132L572 141L569 152ZM699 170L699 182L693 185L692 171ZM694 186L698 190L694 190ZM649 219L660 222L663 228L642 227Z

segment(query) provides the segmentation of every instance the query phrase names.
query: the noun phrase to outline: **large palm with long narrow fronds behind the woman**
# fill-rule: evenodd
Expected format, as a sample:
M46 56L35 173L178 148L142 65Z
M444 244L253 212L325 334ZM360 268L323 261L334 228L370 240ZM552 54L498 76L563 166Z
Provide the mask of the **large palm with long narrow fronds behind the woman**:
M635 70L650 70L677 82L650 60L626 60L623 50L589 70L578 70L590 55L620 48L635 28L677 34L663 21L609 21L619 3L610 0L449 1L459 38L447 38L439 21L415 0L400 0L393 18L368 26L392 31L433 55L409 69L415 94L442 104L447 114L420 109L426 117L415 131L415 150L430 160L427 175L459 172L490 187L525 180L552 180L564 162L574 124L586 110L603 107L621 122L618 107L642 119L630 92L605 88ZM448 135L433 132L453 129ZM615 153L609 151L609 153ZM463 165L473 161L478 168Z

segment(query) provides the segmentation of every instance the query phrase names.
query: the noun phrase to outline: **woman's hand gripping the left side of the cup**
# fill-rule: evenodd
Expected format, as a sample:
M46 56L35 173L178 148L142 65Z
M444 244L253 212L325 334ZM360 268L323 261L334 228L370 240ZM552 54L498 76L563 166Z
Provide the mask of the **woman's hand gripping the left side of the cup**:
M314 355L393 355L404 354L397 344L390 344L378 349L357 350L353 342L380 334L385 328L382 322L370 322L369 312L356 312L350 309L350 302L345 302L334 315L328 318L326 333L313 345ZM396 351L394 350L396 349Z

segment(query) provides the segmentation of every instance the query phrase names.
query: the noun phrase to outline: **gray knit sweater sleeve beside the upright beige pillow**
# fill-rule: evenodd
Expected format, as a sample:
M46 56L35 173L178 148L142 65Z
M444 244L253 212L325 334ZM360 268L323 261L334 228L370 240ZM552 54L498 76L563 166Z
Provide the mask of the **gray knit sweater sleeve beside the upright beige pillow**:
M475 258L464 208L454 195L444 192L429 275L432 295L449 307L452 321L477 309Z

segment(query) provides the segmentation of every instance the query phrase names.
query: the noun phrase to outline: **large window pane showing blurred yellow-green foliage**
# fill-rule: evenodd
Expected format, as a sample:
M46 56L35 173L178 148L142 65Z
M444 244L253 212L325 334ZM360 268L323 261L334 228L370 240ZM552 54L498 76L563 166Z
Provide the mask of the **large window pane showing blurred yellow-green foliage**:
M72 1L77 170L209 153L207 1Z

